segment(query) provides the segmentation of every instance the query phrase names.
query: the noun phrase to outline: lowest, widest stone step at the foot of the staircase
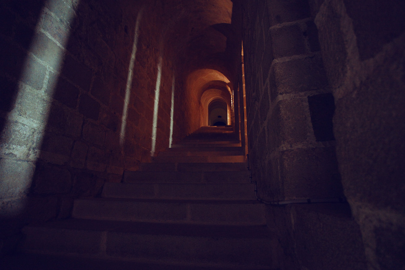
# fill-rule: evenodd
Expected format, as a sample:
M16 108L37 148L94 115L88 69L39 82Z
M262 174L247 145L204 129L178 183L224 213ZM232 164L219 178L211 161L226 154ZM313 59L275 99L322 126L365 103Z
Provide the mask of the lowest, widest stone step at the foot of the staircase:
M110 259L110 264L111 260L122 260L173 266L169 269L269 269L276 244L265 226L70 219L27 226L23 233L22 250L26 253Z

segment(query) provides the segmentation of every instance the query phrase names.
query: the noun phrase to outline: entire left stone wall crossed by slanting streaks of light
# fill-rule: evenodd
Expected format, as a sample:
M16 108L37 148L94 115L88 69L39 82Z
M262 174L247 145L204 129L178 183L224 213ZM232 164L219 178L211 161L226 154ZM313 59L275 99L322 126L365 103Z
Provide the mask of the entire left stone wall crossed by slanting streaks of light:
M149 161L160 62L156 151L168 147L175 68L161 12L127 1L2 2L2 218L67 217L72 198Z

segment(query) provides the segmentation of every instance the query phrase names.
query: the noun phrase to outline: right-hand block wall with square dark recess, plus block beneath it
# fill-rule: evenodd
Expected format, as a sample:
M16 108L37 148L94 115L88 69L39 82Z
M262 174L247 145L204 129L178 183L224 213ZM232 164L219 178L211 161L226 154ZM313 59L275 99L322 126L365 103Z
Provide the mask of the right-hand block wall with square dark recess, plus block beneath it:
M242 3L252 180L267 202L344 198L335 100L308 2ZM281 269L365 269L358 224L345 203L269 205Z

